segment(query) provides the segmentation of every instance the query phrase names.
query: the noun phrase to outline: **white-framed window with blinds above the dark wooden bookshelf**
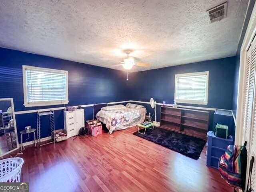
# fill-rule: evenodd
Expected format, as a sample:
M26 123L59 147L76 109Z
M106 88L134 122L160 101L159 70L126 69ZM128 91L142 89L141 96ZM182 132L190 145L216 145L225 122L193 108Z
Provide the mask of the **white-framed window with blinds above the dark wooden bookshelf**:
M209 71L175 75L176 103L208 104Z

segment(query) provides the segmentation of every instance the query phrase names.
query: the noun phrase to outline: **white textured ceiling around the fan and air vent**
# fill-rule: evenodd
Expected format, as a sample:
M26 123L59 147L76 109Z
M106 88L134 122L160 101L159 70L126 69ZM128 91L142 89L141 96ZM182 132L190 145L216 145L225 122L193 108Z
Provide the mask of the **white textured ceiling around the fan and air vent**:
M97 66L126 56L151 64L132 71L234 56L248 0L228 0L227 18L209 24L223 0L1 0L0 47Z

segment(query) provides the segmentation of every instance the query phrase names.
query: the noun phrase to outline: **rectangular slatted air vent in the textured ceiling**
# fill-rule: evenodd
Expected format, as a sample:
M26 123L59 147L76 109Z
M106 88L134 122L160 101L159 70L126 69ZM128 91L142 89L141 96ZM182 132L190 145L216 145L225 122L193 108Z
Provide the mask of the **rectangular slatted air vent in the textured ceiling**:
M227 2L207 10L210 23L220 21L227 16Z

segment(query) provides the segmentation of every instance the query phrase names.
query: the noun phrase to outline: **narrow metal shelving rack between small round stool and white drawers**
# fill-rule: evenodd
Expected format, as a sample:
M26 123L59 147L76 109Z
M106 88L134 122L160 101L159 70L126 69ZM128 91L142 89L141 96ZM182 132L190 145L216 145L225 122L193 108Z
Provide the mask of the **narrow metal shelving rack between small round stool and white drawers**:
M51 141L41 144L41 122L40 122L40 116L43 115L50 115L50 131L51 131ZM45 112L36 112L36 125L37 125L37 144L36 146L38 148L41 148L41 146L50 144L50 143L55 143L55 136L54 136L54 110L50 111L45 111Z

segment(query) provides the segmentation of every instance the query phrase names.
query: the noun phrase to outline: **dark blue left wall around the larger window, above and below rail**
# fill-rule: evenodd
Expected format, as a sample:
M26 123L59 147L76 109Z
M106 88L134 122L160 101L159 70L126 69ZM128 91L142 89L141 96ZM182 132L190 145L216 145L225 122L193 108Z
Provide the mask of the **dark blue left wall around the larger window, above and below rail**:
M24 107L22 65L67 70L68 106L130 99L126 89L126 73L120 70L0 48L0 98L13 98L15 111L64 106ZM44 118L42 137L49 136L50 133L48 117ZM92 118L93 108L88 107L85 119ZM55 122L56 129L64 128L62 110L55 111ZM18 132L28 125L36 128L36 113L16 115L16 124Z

